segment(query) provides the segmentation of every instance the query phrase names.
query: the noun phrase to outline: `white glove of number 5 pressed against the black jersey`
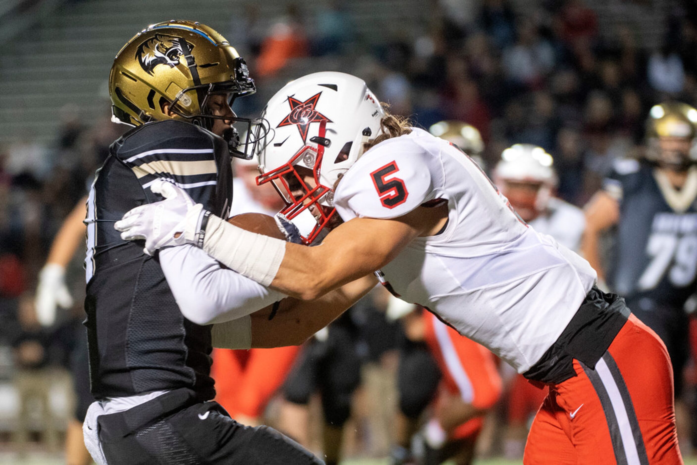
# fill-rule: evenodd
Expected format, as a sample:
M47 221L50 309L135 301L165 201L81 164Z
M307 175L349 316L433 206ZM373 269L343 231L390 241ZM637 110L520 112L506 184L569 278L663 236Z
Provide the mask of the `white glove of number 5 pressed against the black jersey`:
M158 179L150 190L164 200L137 206L126 212L114 229L121 231L124 241L145 240L143 252L148 255L169 245L197 244L204 206L197 204L182 188L166 179ZM199 245L200 247L201 245Z

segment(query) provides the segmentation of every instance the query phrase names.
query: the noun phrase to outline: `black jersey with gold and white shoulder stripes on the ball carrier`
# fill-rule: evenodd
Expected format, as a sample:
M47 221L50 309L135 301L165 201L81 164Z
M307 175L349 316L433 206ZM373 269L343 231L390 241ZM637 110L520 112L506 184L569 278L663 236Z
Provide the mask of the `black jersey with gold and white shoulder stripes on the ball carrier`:
M182 121L147 123L112 144L87 203L85 310L91 389L97 399L192 388L215 395L210 326L181 314L157 255L123 241L114 222L131 208L162 200L149 189L168 178L194 201L227 218L232 199L227 144Z

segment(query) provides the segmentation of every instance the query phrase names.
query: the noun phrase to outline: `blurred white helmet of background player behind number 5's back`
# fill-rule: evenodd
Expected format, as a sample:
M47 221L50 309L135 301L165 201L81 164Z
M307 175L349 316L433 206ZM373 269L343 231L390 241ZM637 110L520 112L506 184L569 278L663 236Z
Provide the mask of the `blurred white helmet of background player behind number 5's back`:
M514 144L501 153L493 182L523 220L546 211L557 185L553 162L552 155L533 144Z

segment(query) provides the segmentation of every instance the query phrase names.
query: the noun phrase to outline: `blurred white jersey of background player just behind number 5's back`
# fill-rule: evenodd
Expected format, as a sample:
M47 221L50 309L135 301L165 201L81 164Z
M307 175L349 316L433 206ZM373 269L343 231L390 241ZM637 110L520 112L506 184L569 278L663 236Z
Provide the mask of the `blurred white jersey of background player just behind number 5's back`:
M528 224L539 233L549 234L555 241L574 252L578 252L581 247L585 215L581 208L562 199L556 197L549 199L546 214L539 215Z

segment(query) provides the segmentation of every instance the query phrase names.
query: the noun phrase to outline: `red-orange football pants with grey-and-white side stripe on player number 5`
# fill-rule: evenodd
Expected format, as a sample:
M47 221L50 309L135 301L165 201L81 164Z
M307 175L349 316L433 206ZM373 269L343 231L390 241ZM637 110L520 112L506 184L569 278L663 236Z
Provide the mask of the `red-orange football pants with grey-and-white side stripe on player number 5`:
M524 464L682 464L666 346L634 314L595 369L550 386Z

